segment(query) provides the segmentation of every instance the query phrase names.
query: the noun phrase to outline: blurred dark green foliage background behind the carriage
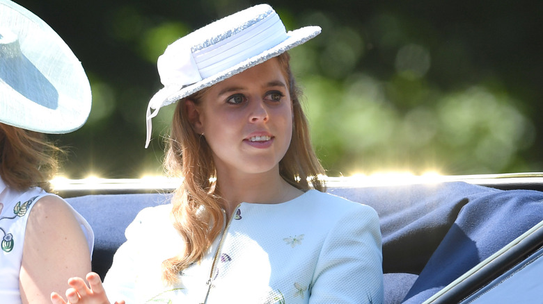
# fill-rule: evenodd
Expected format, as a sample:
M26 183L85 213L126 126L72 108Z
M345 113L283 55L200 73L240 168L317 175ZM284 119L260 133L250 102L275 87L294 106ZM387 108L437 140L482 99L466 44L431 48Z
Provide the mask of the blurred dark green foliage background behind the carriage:
M83 63L93 110L74 133L63 175L162 174L173 106L145 110L162 85L168 44L258 2L16 0ZM329 176L410 171L543 171L543 1L269 1L287 29L320 25L297 47L313 143Z

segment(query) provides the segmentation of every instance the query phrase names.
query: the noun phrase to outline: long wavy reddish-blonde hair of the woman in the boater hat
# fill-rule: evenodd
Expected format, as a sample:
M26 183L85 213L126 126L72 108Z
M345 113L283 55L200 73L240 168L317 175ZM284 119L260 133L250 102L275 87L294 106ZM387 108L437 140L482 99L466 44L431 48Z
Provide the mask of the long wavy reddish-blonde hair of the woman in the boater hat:
M284 180L298 189L307 191L313 187L324 192L325 185L318 178L324 174L324 169L310 142L308 121L299 102L301 92L290 70L290 56L285 52L277 58L283 75L288 80L294 114L292 140L279 162L279 173ZM198 103L203 94L205 89L187 99ZM216 184L212 179L216 176L212 151L205 137L194 132L189 123L184 110L184 101L187 99L178 101L175 108L164 161L169 174L183 178L182 185L173 195L172 216L173 226L186 243L183 253L162 263L162 277L169 284L178 282L180 271L203 258L207 248L221 233L222 226L215 223L222 223L224 217L220 197L215 189Z

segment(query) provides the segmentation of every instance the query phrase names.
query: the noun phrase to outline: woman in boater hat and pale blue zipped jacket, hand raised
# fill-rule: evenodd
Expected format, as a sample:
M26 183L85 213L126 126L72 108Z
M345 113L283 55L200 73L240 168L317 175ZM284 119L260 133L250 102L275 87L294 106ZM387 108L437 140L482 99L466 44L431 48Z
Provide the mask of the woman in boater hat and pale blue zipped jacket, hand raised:
M166 49L148 123L178 101L166 167L184 180L127 228L103 287L70 279L70 303L382 302L377 214L322 193L285 53L318 33L261 5Z

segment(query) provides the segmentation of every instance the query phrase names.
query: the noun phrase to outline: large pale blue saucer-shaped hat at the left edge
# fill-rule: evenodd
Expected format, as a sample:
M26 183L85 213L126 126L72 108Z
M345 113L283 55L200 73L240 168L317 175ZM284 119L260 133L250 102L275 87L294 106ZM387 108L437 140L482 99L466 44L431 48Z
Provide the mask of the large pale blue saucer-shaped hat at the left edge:
M26 8L0 0L0 122L40 133L68 133L91 112L81 62Z

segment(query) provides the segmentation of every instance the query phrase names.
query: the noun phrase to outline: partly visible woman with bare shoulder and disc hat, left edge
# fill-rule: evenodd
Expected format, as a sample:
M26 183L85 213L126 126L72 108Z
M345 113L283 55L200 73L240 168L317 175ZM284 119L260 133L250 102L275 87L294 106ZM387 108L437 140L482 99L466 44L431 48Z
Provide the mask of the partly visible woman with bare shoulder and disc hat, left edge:
M61 37L0 0L0 303L50 303L91 270L91 226L49 180L62 153L44 133L81 127L91 89ZM61 251L58 248L62 248Z

